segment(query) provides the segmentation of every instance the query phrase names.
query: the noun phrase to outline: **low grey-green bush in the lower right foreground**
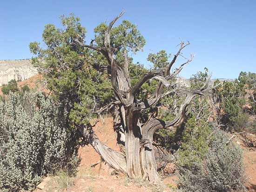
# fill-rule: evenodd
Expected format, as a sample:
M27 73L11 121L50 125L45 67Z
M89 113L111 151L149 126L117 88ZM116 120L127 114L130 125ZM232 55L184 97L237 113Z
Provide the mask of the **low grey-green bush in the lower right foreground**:
M223 132L209 142L203 160L177 167L182 192L246 191L242 151L232 143L227 144Z

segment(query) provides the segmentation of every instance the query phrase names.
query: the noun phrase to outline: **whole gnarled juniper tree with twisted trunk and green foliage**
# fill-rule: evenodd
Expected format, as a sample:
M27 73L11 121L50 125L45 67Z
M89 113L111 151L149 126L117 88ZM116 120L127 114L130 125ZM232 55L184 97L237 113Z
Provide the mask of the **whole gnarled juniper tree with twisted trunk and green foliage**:
M47 25L43 33L46 49L34 42L31 51L36 54L34 65L45 75L47 87L59 98L70 118L70 125L81 133L82 140L94 147L104 161L130 178L148 179L159 184L153 151L153 135L160 129L174 130L184 121L187 107L195 95L208 92L206 84L186 92L179 111L171 121L157 119L148 110L159 101L175 92L173 83L182 68L190 63L186 60L171 72L177 57L189 42L181 41L177 53L168 61L165 52L149 55L155 62L152 70L133 78L130 74L132 58L130 53L141 50L145 40L137 26L127 20L114 26L123 15L120 13L109 25L101 23L94 29L94 39L85 43L85 28L73 15L62 18L64 29ZM160 58L160 59L159 59ZM141 97L142 88L148 82L154 85L152 93ZM103 91L102 91L103 90ZM117 142L123 146L124 153L114 151L97 138L89 119L112 109L113 129ZM143 115L142 115L143 114ZM142 118L143 116L143 118ZM146 116L146 117L145 117Z

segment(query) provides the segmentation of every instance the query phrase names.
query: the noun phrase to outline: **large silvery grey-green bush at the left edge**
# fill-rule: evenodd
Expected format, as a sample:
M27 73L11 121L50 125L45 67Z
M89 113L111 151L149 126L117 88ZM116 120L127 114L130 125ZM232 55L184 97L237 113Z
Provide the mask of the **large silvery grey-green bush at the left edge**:
M73 168L71 132L58 106L42 93L11 93L0 102L0 189L33 188L48 172Z

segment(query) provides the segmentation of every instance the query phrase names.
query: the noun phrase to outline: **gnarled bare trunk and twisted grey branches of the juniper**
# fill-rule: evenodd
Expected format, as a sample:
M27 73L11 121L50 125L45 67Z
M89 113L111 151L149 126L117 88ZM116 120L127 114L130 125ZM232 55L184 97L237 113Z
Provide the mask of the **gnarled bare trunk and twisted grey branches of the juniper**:
M188 92L187 98L183 101L173 121L165 123L159 119L149 119L144 126L138 126L138 119L142 110L154 106L162 97L175 91L175 88L170 89L172 87L169 81L180 73L183 66L192 61L193 55L179 68L175 69L173 73L170 73L170 69L175 63L176 58L181 54L182 49L189 45L189 42L186 45L184 45L184 42L181 42L178 52L175 54L173 60L168 63L167 67L146 73L132 87L128 73L126 49L124 47L124 62L120 64L115 60L115 48L111 47L110 42L111 28L122 14L123 12L110 22L105 33L103 47L96 48L92 44L84 46L101 52L108 60L109 66L95 66L95 68L104 73L111 74L112 89L114 90L116 101L103 107L100 112L115 106L113 126L117 136L117 142L125 146L125 156L102 144L92 131L90 132L93 136L90 137L89 143L110 166L121 172L126 172L130 178L147 178L154 184L161 184L153 151L154 133L161 128L171 130L181 125L184 121L187 106L191 100L196 94L203 95L209 89L205 89L205 86L203 86L201 90ZM159 81L156 91L152 97L139 103L136 99L137 93L141 89L141 86L149 79L157 79ZM165 93L164 87L168 88ZM88 130L83 130L85 136L86 132Z

